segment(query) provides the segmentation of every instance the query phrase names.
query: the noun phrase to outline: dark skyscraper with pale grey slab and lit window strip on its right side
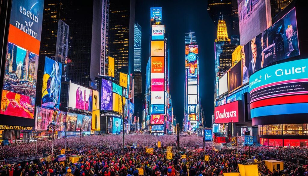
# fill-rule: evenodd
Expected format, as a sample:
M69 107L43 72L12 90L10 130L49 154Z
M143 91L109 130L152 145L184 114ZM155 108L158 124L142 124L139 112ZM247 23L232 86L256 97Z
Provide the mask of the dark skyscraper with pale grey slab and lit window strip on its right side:
M109 0L71 2L72 82L95 87L95 77L107 74L108 6ZM87 13L84 13L87 12ZM98 64L100 63L100 64Z

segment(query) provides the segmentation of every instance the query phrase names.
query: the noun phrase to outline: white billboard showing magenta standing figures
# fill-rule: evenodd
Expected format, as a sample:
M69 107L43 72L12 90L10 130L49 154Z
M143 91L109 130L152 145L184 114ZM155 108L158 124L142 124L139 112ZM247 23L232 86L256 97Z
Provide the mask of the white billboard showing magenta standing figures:
M70 82L68 107L92 111L92 90Z

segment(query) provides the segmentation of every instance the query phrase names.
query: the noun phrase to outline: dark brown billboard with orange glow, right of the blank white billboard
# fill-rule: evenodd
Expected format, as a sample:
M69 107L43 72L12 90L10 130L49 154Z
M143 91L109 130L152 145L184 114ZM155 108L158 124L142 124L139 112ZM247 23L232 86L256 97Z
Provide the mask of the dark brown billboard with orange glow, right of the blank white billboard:
M229 92L237 89L242 85L242 64L241 61L238 62L234 67L229 70L228 73L228 85L229 85Z

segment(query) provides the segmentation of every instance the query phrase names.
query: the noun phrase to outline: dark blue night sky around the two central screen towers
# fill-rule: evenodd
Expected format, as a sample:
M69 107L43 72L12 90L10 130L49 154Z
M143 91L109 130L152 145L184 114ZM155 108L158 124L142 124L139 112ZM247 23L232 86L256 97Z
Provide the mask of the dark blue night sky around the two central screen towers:
M136 0L135 22L142 28L142 83L145 94L149 59L150 7L162 7L162 24L170 37L170 93L173 114L184 118L185 32L196 31L199 45L200 98L206 126L211 127L214 101L214 39L217 29L207 12L207 0Z

